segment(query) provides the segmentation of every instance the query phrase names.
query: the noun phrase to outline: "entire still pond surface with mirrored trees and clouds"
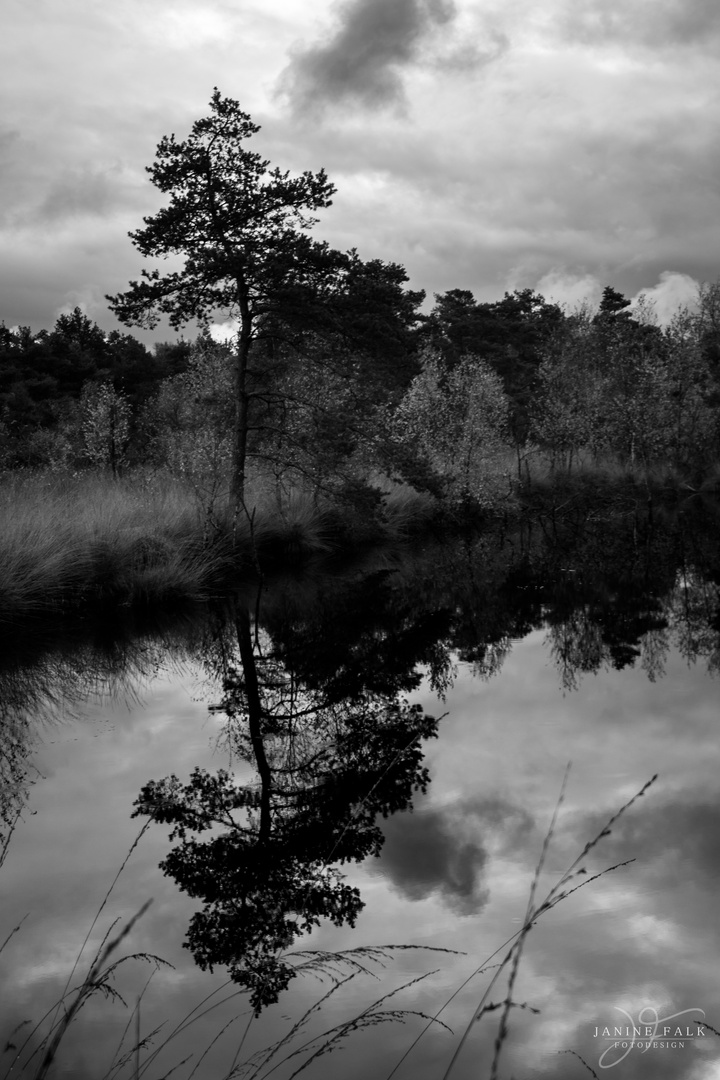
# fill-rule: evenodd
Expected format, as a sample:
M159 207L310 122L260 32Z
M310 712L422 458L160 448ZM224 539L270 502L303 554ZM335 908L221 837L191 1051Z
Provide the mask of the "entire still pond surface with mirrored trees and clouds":
M52 1076L486 1078L510 976L498 1076L720 1077L717 521L540 514L5 650L0 1077L150 899Z

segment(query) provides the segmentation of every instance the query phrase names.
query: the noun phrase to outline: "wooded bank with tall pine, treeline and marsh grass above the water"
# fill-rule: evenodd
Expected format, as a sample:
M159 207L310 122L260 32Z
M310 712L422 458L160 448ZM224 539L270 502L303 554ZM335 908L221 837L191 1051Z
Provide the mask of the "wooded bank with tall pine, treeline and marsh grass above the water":
M194 339L148 348L80 308L0 326L4 611L203 598L239 566L457 530L569 484L717 490L720 283L662 326L611 285L597 309L530 288L431 307L399 264L312 239L335 188L271 168L245 148L258 130L215 91L163 138L148 173L169 203L131 239L174 269L108 297Z

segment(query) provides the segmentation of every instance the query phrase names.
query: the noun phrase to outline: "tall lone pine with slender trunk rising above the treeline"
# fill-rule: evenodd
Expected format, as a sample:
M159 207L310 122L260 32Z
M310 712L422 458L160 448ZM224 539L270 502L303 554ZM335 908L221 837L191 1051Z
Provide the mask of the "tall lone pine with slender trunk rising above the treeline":
M259 126L237 102L215 89L210 114L195 121L189 138L165 136L148 172L169 193L169 205L146 217L131 233L145 257L180 255L181 270L144 270L142 281L109 296L121 322L157 325L168 315L179 327L206 322L216 311L236 319L235 415L231 500L237 513L245 496L248 432L248 359L263 320L297 307L314 294L317 278L332 273L332 253L304 230L314 211L330 205L335 187L324 170L290 177L244 140Z

